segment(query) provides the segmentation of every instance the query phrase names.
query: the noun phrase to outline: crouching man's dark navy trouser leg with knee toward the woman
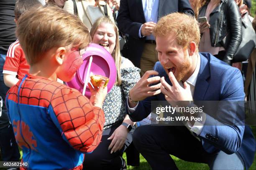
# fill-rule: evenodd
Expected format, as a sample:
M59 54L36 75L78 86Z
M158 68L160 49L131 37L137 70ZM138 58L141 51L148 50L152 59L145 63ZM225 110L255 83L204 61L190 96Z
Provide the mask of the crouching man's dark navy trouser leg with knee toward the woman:
M133 143L153 170L177 170L170 154L202 163L207 163L210 157L184 126L141 126L133 133Z

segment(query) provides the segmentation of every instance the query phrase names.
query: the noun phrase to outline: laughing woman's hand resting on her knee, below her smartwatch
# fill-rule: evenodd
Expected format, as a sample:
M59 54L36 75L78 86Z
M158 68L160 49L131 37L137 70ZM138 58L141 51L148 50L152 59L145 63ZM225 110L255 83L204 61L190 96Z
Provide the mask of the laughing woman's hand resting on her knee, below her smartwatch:
M108 140L112 140L108 147L108 150L111 150L110 153L122 149L123 145L125 144L127 134L128 130L123 125L120 125L117 129L115 129L113 134L108 138Z

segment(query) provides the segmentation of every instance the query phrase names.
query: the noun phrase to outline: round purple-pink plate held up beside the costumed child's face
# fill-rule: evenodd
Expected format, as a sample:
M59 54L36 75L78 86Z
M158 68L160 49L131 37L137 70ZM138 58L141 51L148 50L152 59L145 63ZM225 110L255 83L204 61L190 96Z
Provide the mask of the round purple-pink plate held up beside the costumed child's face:
M106 76L109 78L107 87L108 92L110 92L116 80L115 61L111 54L105 48L95 43L90 43L90 45L86 48L86 51L82 56L84 63L82 63L81 67L77 70L77 74L74 76L74 78L71 81L67 82L67 85L69 87L79 90L82 93L90 56L92 56L92 65L89 73L88 82L90 82L90 76L92 75ZM85 96L87 96L88 98L90 98L91 96L88 85L85 90Z

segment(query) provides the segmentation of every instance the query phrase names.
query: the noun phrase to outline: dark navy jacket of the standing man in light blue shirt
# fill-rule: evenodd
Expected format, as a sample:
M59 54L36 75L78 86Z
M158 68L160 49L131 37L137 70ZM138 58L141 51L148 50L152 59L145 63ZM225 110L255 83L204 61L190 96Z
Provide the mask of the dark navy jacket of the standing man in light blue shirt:
M158 19L169 13L181 12L194 15L188 0L159 0ZM120 9L116 19L121 32L128 34L128 56L136 67L140 67L146 37L139 38L138 32L146 19L141 0L120 0Z

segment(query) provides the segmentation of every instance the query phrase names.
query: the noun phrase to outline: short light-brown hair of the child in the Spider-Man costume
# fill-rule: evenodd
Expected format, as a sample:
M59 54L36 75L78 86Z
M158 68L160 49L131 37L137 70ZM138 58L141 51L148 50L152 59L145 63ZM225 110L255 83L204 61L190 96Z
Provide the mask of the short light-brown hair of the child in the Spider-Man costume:
M54 47L85 48L91 40L76 15L56 6L28 10L18 20L16 35L31 66Z

